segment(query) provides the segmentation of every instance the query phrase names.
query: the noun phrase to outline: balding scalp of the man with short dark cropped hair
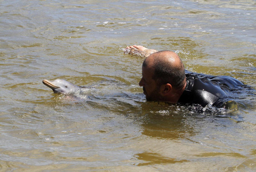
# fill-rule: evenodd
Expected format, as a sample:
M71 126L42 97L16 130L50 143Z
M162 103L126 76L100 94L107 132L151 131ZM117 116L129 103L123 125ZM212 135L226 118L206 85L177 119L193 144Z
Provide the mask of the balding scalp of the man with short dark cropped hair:
M155 52L144 60L143 67L154 70L153 79L159 85L170 83L175 89L182 89L184 86L185 69L175 52Z

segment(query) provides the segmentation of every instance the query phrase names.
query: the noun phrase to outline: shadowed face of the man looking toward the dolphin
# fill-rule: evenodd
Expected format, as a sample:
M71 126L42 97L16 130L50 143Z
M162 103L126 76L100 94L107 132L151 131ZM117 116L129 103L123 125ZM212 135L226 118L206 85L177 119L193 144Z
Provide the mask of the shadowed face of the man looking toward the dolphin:
M152 78L154 69L142 67L142 78L139 85L143 86L143 93L148 101L159 101L160 93L156 81Z

